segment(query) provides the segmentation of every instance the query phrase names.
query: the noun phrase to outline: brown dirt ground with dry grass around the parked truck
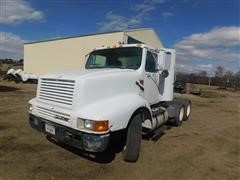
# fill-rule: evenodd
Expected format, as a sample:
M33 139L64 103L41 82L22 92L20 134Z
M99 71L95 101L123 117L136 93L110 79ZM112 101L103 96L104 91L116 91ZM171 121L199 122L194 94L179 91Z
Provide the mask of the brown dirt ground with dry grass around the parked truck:
M139 161L126 163L121 152L94 158L47 140L27 122L36 86L0 82L0 179L240 179L240 94L203 88L185 95L189 121L143 140Z

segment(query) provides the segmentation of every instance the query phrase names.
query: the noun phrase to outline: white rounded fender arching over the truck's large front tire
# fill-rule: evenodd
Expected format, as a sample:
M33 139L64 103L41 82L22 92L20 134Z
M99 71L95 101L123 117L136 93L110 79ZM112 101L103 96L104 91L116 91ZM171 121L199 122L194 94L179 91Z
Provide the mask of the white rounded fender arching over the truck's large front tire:
M132 114L146 105L141 96L129 93L89 104L78 112L85 119L109 120L110 130L117 131L126 128Z

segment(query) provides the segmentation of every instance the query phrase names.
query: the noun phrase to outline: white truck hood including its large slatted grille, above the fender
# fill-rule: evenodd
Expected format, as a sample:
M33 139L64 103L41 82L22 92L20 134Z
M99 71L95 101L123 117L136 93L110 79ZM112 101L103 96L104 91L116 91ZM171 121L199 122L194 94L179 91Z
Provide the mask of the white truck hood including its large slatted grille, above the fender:
M58 84L44 80L42 85L43 78L74 82ZM49 104L77 110L122 95L139 95L140 88L136 85L139 78L140 74L131 69L89 69L53 73L41 77L37 97L45 98L44 101ZM69 91L67 95L71 96L70 99L63 95L63 91Z

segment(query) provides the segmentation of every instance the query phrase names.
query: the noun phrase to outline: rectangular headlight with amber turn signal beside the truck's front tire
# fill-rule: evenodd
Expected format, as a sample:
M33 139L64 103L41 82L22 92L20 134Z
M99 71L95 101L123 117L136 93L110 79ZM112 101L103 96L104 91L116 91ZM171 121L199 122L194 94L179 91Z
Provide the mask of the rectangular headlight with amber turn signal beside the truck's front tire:
M104 121L93 121L88 119L77 119L77 128L79 129L89 129L96 132L108 131L108 120Z

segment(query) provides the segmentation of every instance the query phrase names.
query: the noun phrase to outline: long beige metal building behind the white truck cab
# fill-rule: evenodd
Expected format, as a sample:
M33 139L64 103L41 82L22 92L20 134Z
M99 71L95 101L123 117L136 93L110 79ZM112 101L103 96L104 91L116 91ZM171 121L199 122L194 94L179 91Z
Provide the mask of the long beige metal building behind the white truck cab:
M24 44L24 71L41 75L70 69L83 69L85 55L96 47L145 43L156 48L163 45L151 28L90 34Z

